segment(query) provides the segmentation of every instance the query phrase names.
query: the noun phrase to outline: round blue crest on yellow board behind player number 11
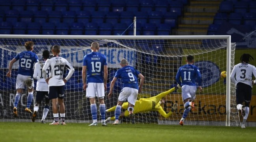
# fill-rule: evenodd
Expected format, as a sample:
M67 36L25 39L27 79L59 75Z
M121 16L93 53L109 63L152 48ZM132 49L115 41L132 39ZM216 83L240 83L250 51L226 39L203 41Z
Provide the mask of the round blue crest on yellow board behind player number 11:
M195 62L194 65L199 68L200 74L202 75L202 87L208 87L219 81L221 71L219 70L219 66L215 63L211 61L198 61ZM195 81L197 84L197 79Z

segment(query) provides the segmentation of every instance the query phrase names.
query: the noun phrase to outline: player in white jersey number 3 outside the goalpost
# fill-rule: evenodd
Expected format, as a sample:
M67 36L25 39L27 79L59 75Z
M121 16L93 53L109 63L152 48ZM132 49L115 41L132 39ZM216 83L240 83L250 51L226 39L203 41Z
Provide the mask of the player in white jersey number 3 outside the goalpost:
M236 84L236 104L237 110L241 111L243 116L243 122L241 128L245 128L245 122L249 114L250 101L252 100L252 74L256 77L256 68L249 64L249 61L254 60L254 58L247 53L244 53L240 57L239 63L234 66L230 79ZM245 105L242 103L245 102Z

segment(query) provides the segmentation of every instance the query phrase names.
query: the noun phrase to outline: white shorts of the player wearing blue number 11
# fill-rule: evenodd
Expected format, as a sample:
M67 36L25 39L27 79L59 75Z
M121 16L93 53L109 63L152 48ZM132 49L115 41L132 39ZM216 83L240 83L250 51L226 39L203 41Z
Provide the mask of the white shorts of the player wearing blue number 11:
M196 91L197 87L195 86L189 86L189 85L183 85L181 87L182 90L182 99L186 100L187 98L190 98L190 100L195 100L196 98Z

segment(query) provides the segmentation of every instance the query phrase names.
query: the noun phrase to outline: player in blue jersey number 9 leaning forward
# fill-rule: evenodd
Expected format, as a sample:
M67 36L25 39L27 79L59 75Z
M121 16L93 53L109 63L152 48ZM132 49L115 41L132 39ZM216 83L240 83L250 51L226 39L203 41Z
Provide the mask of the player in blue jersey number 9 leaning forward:
M123 83L122 92L119 94L117 107L115 108L115 122L113 125L118 125L119 116L121 114L122 104L124 101L128 101L128 111L129 116L133 116L135 101L137 100L138 93L141 92L141 87L144 83L145 77L137 71L134 67L128 66L128 61L126 59L122 59L120 65L122 68L117 70L115 76L110 84L110 90L108 94L108 98L111 98L113 93L113 88L115 85L115 81L118 78L121 78ZM138 83L138 77L141 79L140 84Z

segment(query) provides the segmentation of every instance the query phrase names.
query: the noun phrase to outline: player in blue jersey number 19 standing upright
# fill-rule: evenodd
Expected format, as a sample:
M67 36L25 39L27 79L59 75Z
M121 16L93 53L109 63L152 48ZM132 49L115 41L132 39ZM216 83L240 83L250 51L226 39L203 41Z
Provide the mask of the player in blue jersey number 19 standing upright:
M91 103L91 114L93 123L89 126L97 124L97 107L95 98L98 97L100 103L100 114L102 126L107 126L105 122L106 106L104 103L105 90L107 89L108 66L106 56L99 53L98 42L91 44L92 52L83 58L83 90L86 90L86 97Z

